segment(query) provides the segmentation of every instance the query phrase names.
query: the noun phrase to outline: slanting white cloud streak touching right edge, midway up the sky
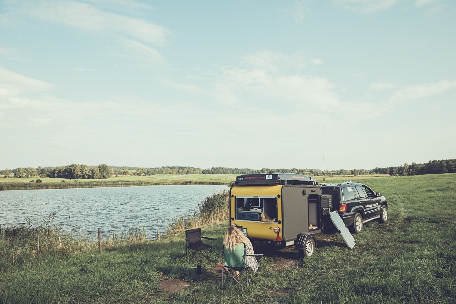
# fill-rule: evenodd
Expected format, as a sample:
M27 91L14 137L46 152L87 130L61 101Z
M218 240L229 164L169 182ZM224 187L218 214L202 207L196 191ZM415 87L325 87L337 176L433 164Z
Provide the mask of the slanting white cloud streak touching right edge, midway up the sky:
M402 103L426 98L456 88L456 80L443 80L432 84L415 84L398 90L390 99L391 103Z

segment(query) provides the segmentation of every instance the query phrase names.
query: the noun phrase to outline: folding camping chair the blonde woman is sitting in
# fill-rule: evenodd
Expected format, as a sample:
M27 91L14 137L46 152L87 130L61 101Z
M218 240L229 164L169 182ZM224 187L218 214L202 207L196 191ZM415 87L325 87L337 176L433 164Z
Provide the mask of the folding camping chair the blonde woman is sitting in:
M225 249L225 246L223 246L222 250L222 255L225 259L225 262L220 265L222 266L222 288L224 283L226 283L228 280L236 281L236 283L239 284L239 286L244 287L243 284L241 283L242 281L244 282L244 285L246 287L249 287L249 283L253 282L252 279L252 269L247 266L247 261L246 257L255 257L259 258L262 257L262 254L245 254L245 244L244 243L239 243L234 247L233 252L228 252ZM238 271L239 274L236 276L235 271ZM225 281L223 281L223 275L226 277ZM229 282L228 282L229 283Z

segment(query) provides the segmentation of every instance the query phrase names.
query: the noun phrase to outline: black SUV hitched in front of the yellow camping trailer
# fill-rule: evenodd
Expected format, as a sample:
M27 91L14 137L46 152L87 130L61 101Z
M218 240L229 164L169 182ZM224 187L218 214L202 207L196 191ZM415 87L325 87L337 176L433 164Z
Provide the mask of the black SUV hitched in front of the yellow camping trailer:
M376 220L388 221L388 202L381 193L375 193L363 183L320 184L322 194L332 195L332 207L339 211L343 222L353 233L360 233L364 223Z

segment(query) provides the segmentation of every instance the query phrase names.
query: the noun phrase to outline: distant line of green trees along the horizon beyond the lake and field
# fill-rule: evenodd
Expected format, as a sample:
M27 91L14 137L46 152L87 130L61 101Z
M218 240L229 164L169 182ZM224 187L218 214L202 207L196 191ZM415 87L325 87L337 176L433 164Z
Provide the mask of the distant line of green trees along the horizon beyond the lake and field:
M269 172L290 172L309 176L322 175L369 175L369 174L388 174L390 176L423 175L436 173L456 173L456 159L433 160L424 164L412 162L404 163L398 167L374 168L371 170L352 169L352 170L320 170L308 168L262 168L255 170L250 168L228 168L211 167L207 169L179 166L163 166L156 168L140 167L118 167L101 164L98 166L71 164L61 167L41 167L38 168L16 168L0 170L0 176L9 178L11 175L16 178L31 178L35 176L48 178L70 178L70 179L90 179L90 178L109 178L112 176L151 176L156 174L253 174Z

